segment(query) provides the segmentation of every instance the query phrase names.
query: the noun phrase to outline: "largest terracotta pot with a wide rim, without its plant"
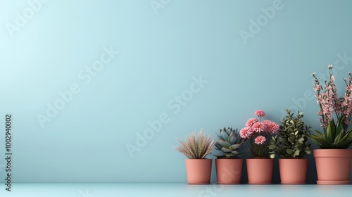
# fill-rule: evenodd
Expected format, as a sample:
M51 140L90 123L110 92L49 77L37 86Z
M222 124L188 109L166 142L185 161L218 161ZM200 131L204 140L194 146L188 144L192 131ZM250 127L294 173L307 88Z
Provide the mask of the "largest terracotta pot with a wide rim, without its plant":
M317 184L350 184L352 149L318 149L313 151L317 167Z

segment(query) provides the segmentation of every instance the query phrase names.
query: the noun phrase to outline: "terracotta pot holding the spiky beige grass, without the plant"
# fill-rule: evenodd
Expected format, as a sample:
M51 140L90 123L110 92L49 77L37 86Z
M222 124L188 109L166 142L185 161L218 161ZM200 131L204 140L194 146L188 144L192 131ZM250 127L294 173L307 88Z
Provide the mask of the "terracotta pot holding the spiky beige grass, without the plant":
M210 184L211 159L186 159L188 184Z

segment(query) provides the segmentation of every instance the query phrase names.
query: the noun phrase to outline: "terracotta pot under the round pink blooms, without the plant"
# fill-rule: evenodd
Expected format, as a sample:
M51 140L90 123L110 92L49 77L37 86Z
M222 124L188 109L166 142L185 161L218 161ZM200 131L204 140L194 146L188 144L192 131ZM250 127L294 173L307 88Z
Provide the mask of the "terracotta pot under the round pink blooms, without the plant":
M246 159L249 184L271 184L273 159Z

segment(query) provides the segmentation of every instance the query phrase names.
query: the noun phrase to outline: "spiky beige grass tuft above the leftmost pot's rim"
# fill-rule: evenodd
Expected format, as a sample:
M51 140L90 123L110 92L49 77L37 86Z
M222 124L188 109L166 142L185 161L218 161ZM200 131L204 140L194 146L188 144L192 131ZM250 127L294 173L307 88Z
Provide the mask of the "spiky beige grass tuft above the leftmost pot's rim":
M180 146L176 146L176 151L183 153L190 159L203 159L206 158L206 155L210 154L213 150L215 140L203 134L201 129L196 135L194 132L189 134L184 141L176 138L180 142Z

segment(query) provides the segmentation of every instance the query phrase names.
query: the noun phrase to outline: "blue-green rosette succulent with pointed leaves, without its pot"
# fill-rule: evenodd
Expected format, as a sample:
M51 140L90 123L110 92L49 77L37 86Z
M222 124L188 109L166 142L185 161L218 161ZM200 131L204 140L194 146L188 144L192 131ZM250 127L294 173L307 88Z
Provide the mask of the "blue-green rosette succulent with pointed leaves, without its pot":
M244 139L239 136L237 129L224 127L220 129L220 133L217 134L219 141L215 143L215 150L220 151L220 154L215 155L218 158L235 158L238 157L239 148L244 143Z

